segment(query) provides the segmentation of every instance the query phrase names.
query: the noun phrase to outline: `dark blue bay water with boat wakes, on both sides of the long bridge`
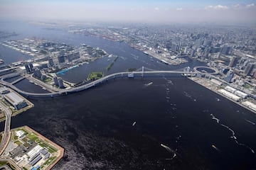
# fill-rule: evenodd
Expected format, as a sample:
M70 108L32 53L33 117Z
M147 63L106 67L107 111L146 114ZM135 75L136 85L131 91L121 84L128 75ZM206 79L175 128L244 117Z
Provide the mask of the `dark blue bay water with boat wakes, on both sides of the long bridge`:
M62 75L74 82L92 71L201 64L171 67L124 43L29 29L19 36L87 43L119 56L110 72L105 67L113 58L105 57ZM28 81L16 86L40 91ZM11 128L28 125L63 146L65 157L54 169L256 169L255 114L184 77L115 79L79 94L30 101L35 107L12 118Z

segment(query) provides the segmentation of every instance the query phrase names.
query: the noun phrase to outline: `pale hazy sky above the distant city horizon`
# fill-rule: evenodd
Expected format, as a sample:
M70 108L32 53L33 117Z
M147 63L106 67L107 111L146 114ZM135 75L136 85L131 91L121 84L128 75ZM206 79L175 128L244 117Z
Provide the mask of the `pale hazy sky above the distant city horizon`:
M256 23L255 0L0 0L0 18Z

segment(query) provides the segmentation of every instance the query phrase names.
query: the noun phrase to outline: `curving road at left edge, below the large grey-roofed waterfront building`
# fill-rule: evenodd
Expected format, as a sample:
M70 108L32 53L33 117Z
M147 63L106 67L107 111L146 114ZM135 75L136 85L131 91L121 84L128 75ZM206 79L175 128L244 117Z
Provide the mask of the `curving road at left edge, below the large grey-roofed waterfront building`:
M11 111L9 108L6 108L3 103L0 101L1 111L4 111L6 115L5 125L4 125L4 137L1 140L0 144L0 155L4 152L4 149L7 147L10 137L11 137Z

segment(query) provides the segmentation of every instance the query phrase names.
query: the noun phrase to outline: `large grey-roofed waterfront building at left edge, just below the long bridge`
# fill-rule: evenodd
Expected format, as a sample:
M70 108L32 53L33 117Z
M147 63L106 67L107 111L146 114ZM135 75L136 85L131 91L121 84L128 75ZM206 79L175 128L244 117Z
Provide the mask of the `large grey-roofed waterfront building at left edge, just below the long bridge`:
M26 101L21 96L18 96L18 94L14 93L14 92L10 92L9 94L5 94L4 99L6 99L6 101L8 101L17 110L21 109L21 108L24 108L28 105L26 103Z

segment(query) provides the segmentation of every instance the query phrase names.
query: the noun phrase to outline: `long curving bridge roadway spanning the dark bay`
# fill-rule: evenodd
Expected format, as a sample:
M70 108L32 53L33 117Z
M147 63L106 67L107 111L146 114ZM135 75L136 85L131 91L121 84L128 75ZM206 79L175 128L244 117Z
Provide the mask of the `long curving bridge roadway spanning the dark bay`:
M70 93L75 93L78 91L90 89L92 86L101 84L103 81L107 81L108 79L124 77L124 76L127 77L128 74L159 74L159 73L187 74L187 72L183 72L183 71L118 72L118 73L107 75L105 77L102 77L100 79L97 79L95 81L92 81L92 82L82 85L82 86L73 87L70 89L58 89L58 91L51 92L51 93L44 93L44 94L36 94L36 93L30 93L27 91L22 91L21 89L18 89L13 84L10 84L9 82L4 81L3 78L0 80L0 84L2 84L4 86L8 86L9 88L17 91L19 94L26 96L26 97L33 97L33 98L49 98L50 97L51 98L51 97L61 96L64 94L70 94ZM189 74L196 74L196 72L189 72Z

